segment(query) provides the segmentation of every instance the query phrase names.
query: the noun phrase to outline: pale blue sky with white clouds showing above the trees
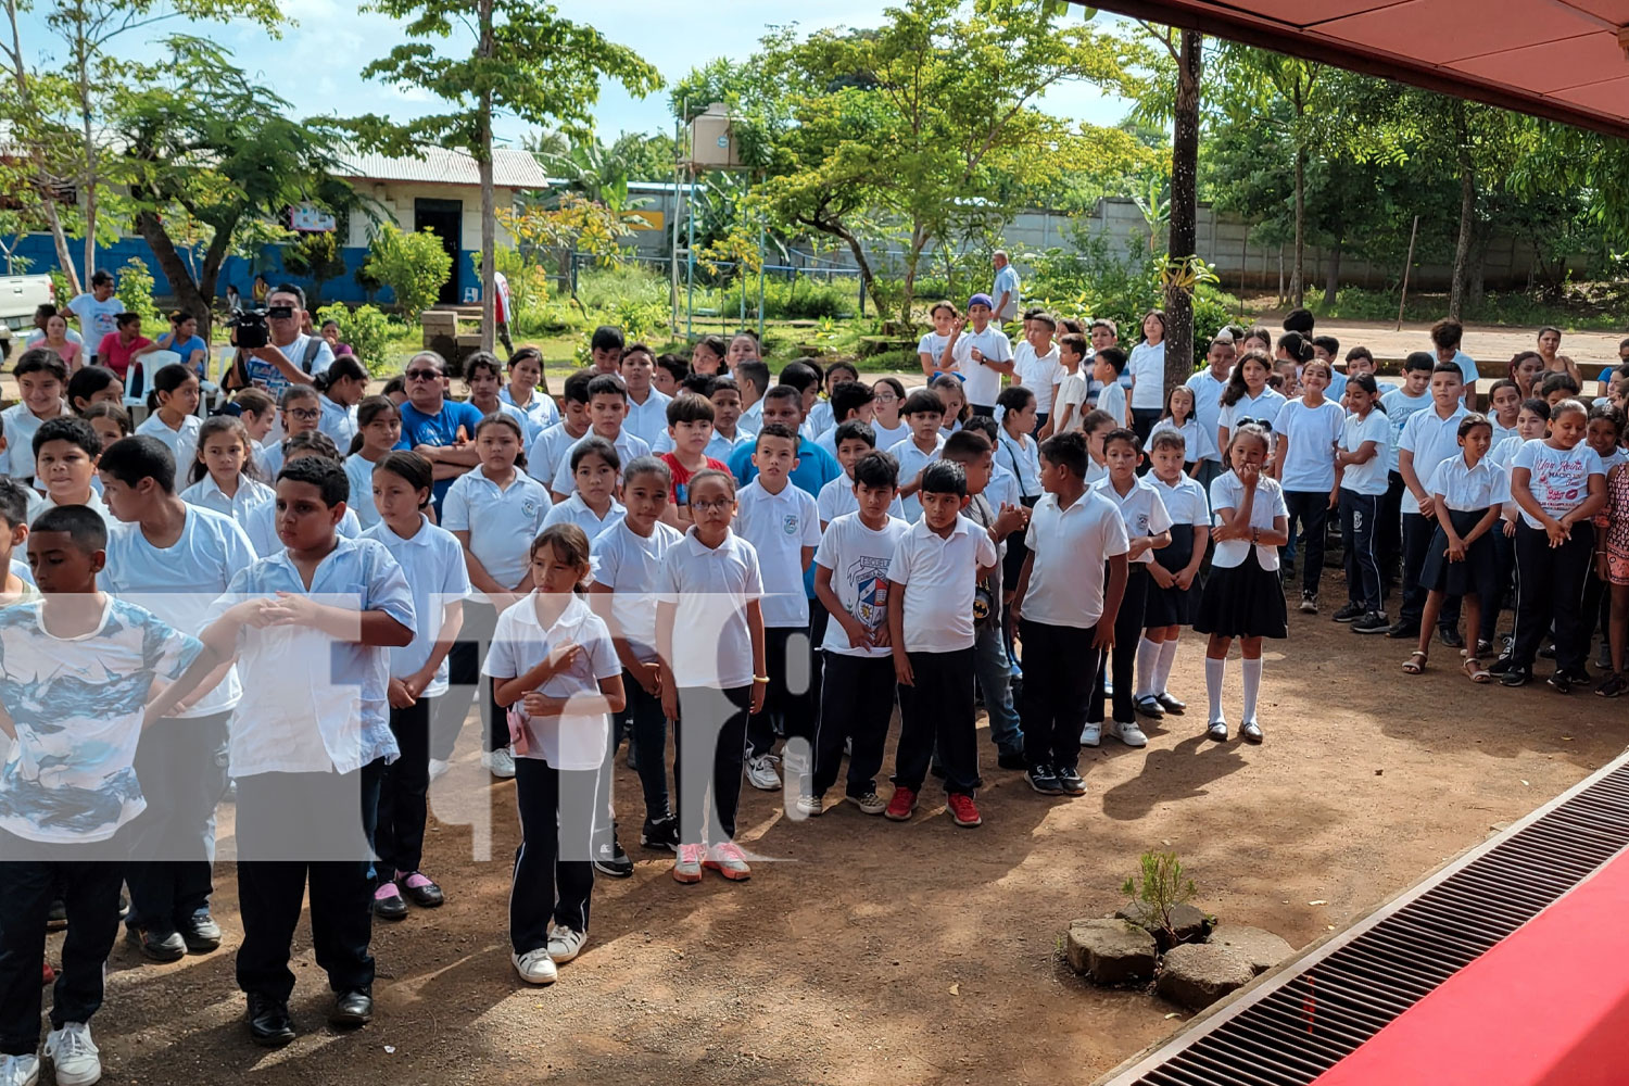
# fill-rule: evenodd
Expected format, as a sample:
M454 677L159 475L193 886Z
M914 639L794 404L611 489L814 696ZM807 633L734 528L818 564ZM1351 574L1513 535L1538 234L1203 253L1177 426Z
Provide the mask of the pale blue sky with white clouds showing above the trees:
M670 83L714 57L746 57L766 26L797 23L803 29L826 26L875 26L885 0L710 0L686 5L678 0L555 0L565 18L590 23L613 41L637 49ZM41 5L42 7L42 5ZM380 15L358 15L357 3L339 0L287 0L282 10L298 21L282 41L269 41L252 26L187 24L174 20L153 31L122 39L121 54L140 55L150 41L168 33L210 36L233 49L238 62L285 99L298 116L355 116L381 112L406 119L435 111L435 99L419 91L402 93L360 78L373 59L401 44L397 23ZM705 11L705 13L702 13ZM1104 16L1098 16L1104 18ZM23 47L36 62L50 63L50 46L37 16L23 18ZM1127 104L1093 88L1056 90L1044 107L1059 116L1114 124ZM616 85L606 86L598 109L599 138L619 132L673 130L666 93L632 99ZM502 119L497 134L516 140L528 125Z

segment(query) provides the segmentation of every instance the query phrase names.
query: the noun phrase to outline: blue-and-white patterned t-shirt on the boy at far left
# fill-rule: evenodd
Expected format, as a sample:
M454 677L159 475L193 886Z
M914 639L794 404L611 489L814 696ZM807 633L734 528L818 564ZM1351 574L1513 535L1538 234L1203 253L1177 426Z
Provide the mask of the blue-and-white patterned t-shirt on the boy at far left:
M96 628L78 637L50 633L44 606L0 609L0 705L16 728L0 767L0 830L108 840L147 809L135 746L153 679L179 679L204 646L111 594Z

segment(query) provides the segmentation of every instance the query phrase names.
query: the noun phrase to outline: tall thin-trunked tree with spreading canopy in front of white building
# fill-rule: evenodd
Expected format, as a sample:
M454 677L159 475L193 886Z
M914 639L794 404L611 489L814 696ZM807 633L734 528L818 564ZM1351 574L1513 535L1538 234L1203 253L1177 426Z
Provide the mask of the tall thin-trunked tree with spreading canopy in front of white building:
M541 0L375 0L370 10L406 20L414 41L396 46L363 75L394 86L430 91L448 104L407 124L365 117L355 127L365 142L396 153L417 143L464 147L481 171L481 339L492 350L492 269L497 210L492 195L492 117L510 112L538 125L569 132L591 127L599 81L611 78L635 96L661 85L637 52L608 41L590 26L564 20ZM451 55L437 42L458 37L466 50Z

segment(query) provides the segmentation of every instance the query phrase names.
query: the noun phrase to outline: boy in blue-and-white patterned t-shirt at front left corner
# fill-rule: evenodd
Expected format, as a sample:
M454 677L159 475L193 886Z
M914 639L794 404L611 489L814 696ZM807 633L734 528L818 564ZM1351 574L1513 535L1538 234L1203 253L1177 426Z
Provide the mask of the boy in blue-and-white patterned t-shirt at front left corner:
M0 731L16 755L0 770L0 1081L39 1075L39 977L46 913L62 894L68 939L46 1055L59 1083L94 1083L101 1058L90 1019L119 933L125 824L147 801L135 747L155 716L155 682L191 692L231 653L204 643L96 586L108 528L85 506L47 510L28 537L41 599L0 611Z

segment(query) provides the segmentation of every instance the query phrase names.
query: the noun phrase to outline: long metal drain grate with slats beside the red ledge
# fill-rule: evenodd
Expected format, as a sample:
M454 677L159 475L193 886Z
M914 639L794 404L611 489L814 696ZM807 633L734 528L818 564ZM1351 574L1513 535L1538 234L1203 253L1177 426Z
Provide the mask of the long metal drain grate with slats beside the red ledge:
M1629 754L1104 1086L1305 1086L1629 847Z

